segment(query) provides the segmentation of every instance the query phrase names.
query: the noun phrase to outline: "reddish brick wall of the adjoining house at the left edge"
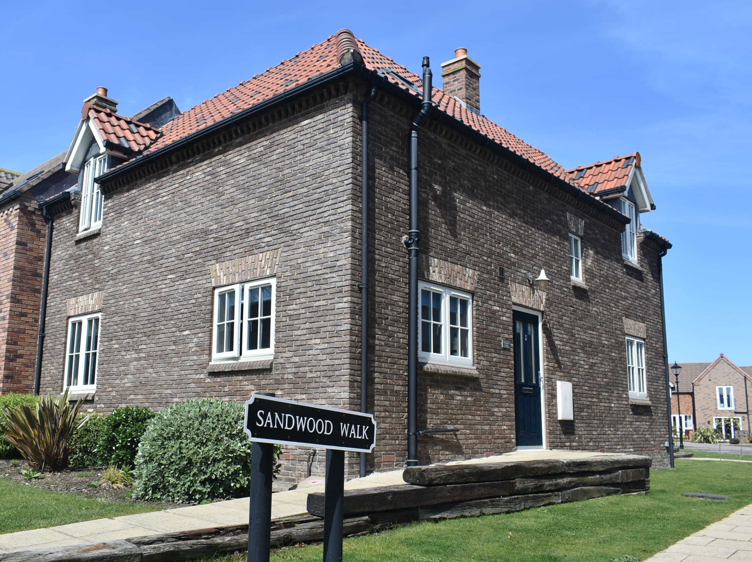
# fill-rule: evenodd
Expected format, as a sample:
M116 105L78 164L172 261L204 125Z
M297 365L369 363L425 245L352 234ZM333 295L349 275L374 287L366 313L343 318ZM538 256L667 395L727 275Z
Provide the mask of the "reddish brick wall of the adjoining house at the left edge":
M29 193L0 213L0 394L34 390L46 235Z

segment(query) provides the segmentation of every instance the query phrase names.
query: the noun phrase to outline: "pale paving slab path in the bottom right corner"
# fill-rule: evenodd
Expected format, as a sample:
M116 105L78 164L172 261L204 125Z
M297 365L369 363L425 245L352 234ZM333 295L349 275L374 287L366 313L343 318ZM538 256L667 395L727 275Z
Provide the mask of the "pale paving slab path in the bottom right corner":
M752 560L752 504L681 539L647 562Z

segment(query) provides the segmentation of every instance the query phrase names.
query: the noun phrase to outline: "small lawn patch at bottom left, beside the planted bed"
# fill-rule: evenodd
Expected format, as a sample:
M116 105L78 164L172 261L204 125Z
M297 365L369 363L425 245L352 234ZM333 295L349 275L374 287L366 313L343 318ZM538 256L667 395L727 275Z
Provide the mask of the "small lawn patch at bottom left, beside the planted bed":
M143 503L117 503L63 494L0 478L0 533L153 512L157 509L162 508Z

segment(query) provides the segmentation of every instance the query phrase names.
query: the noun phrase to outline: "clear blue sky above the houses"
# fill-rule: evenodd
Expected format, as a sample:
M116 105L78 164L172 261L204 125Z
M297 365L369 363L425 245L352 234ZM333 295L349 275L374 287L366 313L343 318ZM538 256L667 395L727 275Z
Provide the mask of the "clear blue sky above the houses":
M752 2L6 2L3 20L0 166L20 172L68 147L97 86L126 115L185 110L341 27L436 75L467 47L483 113L566 168L640 151L643 221L675 245L670 360L752 365Z

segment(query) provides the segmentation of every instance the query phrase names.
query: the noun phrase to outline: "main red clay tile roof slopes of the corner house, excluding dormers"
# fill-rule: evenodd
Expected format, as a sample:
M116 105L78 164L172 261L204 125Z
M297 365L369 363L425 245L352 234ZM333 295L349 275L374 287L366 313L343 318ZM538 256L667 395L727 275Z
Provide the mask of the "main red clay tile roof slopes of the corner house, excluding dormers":
M385 75L389 81L401 87L406 92L412 93L417 97L422 96L420 92L422 84L420 76L409 71L405 66L397 64L393 59L381 54L373 47L369 47L362 40L357 39L356 41L367 68L373 71L381 71L382 74L385 71L396 72L405 77L405 81L388 72ZM310 49L298 53L292 59L280 62L279 65L268 68L267 71L257 74L238 86L230 88L225 93L220 93L214 96L214 98L208 99L188 111L184 111L164 126L162 137L149 147L148 152L166 147L168 144L172 144L180 138L226 119L226 117L230 117L238 111L250 108L252 105L256 105L265 99L304 84L315 76L337 68L339 65L338 56L337 41L335 36L332 35L326 41L323 41L323 43L314 45ZM541 150L527 144L502 126L487 119L487 117L468 111L453 96L447 95L443 90L434 88L433 100L441 111L471 126L476 131L481 132L488 138L493 139L493 141L502 144L502 146L523 156L538 167L556 175L569 184L581 187L572 176L567 174L562 166L554 162L553 159L550 159Z

